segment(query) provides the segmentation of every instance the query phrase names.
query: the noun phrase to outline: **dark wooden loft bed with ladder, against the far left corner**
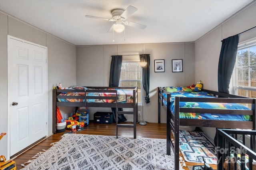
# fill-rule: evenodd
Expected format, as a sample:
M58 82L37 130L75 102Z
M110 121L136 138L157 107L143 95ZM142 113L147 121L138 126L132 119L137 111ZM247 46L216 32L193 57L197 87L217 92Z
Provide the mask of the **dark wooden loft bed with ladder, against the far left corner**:
M85 95L86 94L86 95ZM138 113L137 87L81 87L72 86L66 89L53 89L53 133L57 127L57 107L110 107L116 108L116 137L118 127L133 128L136 138L136 122ZM116 102L117 101L117 102ZM118 108L132 108L132 111L118 111ZM133 115L133 124L118 123L118 115Z

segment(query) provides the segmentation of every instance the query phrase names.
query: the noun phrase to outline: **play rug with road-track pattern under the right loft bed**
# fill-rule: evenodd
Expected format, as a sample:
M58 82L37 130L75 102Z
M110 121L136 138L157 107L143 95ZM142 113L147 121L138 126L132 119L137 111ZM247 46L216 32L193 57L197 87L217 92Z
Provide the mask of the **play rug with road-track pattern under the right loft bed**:
M180 152L187 162L204 163L202 156L208 164L217 164L214 144L208 140L204 132L190 132L180 130Z

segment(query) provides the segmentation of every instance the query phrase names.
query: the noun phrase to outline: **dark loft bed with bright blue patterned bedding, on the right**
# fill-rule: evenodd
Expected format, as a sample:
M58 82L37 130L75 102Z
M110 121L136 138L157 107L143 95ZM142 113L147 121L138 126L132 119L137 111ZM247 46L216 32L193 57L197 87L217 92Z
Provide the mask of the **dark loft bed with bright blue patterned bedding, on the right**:
M164 107L167 117L167 154L170 155L171 149L173 150L175 167L179 166L180 126L246 128L255 130L255 99L205 89L198 92L199 94L196 97L190 97L195 92L183 91L172 93L166 90L170 91L166 87L158 87L158 123L160 123L161 108ZM187 93L188 96L184 96ZM215 106L203 109L201 105L198 105L199 103L214 103ZM226 108L225 104L231 106ZM216 105L222 107L216 108ZM251 109L244 105L249 106ZM242 108L238 108L238 106ZM227 117L222 119L223 116ZM174 139L172 140L172 138Z

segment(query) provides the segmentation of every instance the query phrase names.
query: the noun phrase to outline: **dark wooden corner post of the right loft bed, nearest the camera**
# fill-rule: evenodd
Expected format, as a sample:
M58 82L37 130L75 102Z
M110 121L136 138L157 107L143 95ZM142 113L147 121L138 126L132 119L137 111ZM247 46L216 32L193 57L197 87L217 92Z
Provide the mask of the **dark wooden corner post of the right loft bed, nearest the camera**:
M179 165L180 165L180 162L179 162L179 154L180 154L180 152L179 152L180 97L175 97L174 102L175 102L175 113L174 113L174 117L175 117L175 120L174 120L174 134L175 134L175 136L174 136L174 157L175 157L175 161L174 161L174 167L176 168L176 167L179 167ZM170 106L168 109L170 110ZM171 113L171 111L170 111L170 113Z

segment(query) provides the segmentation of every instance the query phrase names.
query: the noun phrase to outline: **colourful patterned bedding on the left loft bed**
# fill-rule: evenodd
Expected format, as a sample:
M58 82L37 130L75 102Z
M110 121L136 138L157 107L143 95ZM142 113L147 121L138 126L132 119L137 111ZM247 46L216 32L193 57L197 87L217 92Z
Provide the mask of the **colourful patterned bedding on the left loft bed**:
M82 86L72 86L65 89L79 89L79 90L97 90ZM99 90L99 89L98 89ZM114 89L114 88L105 88L100 90L116 90L118 95L118 103L133 103L133 90L129 89ZM66 92L60 93L61 96L84 96L85 92ZM96 96L96 97L115 97L116 93L87 93L86 96ZM84 99L72 99L72 98L58 98L58 102L85 102ZM87 99L88 103L116 103L114 99Z

